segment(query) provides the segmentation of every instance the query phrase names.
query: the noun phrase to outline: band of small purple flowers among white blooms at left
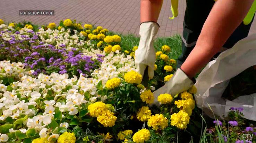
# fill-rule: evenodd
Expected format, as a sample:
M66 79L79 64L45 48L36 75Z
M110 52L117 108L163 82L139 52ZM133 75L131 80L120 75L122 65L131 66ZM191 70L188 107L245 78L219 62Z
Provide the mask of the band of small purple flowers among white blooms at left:
M7 41L0 37L0 53L3 55L0 61L22 62L26 68L35 71L35 76L42 72L67 73L70 77L79 76L81 73L88 76L103 62L104 55L97 54L97 59L94 60L92 56L84 55L82 49L72 48L68 51L63 43L58 46L45 44L39 39L40 33L33 30L27 31L24 35L20 35L18 31L1 31L5 32L10 34L11 40ZM16 34L24 40L18 39Z

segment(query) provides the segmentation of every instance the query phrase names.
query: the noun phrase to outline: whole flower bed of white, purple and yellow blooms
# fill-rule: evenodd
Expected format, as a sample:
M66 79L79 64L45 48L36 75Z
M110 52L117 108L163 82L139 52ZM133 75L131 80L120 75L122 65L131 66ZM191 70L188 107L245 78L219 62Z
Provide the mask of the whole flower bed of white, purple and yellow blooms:
M0 142L169 143L198 123L190 120L198 110L194 86L150 105L176 70L169 46L156 52L154 79L144 87L138 47L123 50L121 37L102 27L69 19L38 31L0 24Z

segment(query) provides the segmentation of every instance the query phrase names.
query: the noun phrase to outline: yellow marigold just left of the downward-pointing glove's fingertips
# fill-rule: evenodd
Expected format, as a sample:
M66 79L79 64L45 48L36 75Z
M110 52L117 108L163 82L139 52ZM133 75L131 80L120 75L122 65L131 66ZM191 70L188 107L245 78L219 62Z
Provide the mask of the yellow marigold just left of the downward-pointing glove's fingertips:
M125 74L125 82L140 84L142 81L142 75L136 71L129 71Z

